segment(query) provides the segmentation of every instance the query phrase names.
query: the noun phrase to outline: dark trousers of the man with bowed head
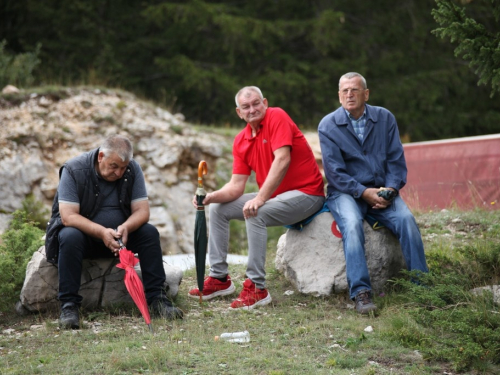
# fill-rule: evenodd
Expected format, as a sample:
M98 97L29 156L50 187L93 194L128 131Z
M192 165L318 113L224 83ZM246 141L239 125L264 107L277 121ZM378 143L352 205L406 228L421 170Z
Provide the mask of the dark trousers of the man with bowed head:
M151 224L144 224L129 233L127 249L139 255L142 281L146 300L151 304L165 295L165 269L158 230ZM61 304L74 302L81 305L83 297L78 294L84 258L113 257L103 242L87 236L73 227L64 227L59 232L59 293Z

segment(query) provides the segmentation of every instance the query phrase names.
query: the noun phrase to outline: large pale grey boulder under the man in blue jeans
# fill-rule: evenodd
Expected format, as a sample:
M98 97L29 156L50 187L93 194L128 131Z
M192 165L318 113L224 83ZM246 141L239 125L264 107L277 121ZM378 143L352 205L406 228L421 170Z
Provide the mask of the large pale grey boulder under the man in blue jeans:
M276 268L304 294L328 296L348 291L342 239L332 234L333 216L324 212L302 231L289 229L281 236ZM406 264L397 238L386 228L374 230L364 224L368 270L374 292Z

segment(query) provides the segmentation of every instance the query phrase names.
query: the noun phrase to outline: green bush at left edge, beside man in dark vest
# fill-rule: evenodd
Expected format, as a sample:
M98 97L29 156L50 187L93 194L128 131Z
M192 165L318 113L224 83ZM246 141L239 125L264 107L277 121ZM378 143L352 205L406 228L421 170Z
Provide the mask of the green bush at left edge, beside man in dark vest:
M0 244L0 311L7 311L19 298L26 275L26 265L43 245L44 232L28 219L25 211L13 213L9 229Z

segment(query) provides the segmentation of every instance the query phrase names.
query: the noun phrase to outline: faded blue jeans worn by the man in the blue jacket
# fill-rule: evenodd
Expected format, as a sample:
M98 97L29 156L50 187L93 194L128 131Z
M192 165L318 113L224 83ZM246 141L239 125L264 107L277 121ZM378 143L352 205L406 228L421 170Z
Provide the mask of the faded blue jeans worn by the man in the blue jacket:
M327 204L342 233L351 299L354 299L361 290L371 290L363 231L363 220L367 214L373 216L396 235L409 271L429 271L417 222L400 196L397 196L390 206L382 210L372 209L363 199L354 199L351 195L342 193L328 196Z

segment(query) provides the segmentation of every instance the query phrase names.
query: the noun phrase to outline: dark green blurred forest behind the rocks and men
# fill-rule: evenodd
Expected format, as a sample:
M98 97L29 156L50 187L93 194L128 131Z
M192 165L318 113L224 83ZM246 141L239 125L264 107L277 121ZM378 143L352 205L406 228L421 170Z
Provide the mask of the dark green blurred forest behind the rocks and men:
M486 37L498 33L491 0L438 3L464 7ZM498 133L498 101L477 85L468 52L454 56L454 30L433 35L446 27L433 9L434 0L5 0L0 40L13 54L40 43L37 84L118 86L191 122L241 126L234 94L258 85L271 106L316 129L339 105L339 77L358 71L404 141Z

